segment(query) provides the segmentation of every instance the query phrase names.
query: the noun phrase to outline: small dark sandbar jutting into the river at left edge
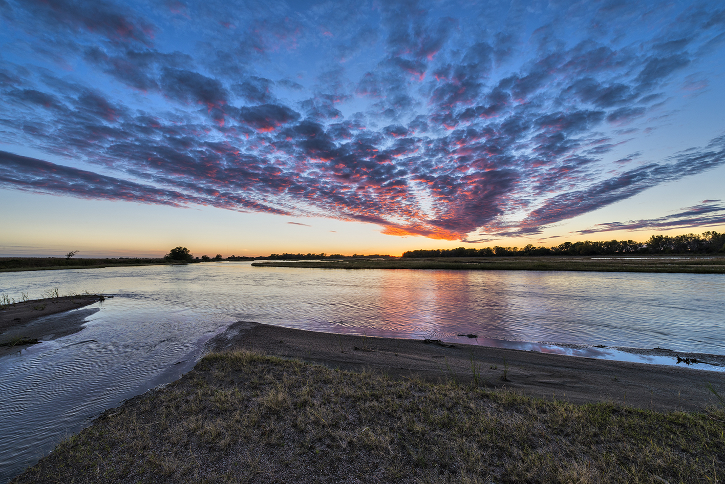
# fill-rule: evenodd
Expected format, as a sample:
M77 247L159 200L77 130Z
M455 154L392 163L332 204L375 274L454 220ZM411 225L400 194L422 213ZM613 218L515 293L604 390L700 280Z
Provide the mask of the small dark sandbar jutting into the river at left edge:
M72 335L83 329L81 322L88 311L69 313L68 317L48 319L43 316L64 313L104 300L103 295L72 295L25 300L0 308L0 357L17 353L41 340Z

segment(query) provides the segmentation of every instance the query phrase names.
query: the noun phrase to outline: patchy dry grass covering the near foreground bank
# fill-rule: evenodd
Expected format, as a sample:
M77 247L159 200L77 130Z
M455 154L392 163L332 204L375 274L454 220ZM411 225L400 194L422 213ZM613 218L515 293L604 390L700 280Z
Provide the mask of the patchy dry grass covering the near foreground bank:
M112 409L20 483L721 483L725 411L573 405L247 350Z

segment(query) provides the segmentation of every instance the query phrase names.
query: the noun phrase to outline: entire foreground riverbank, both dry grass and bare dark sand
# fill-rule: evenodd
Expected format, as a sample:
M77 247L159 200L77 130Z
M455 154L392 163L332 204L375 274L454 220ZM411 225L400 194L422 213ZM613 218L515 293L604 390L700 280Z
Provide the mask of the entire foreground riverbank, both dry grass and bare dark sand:
M12 482L700 483L725 473L725 411L700 389L710 380L725 393L713 372L244 322L210 349L221 352L105 412Z

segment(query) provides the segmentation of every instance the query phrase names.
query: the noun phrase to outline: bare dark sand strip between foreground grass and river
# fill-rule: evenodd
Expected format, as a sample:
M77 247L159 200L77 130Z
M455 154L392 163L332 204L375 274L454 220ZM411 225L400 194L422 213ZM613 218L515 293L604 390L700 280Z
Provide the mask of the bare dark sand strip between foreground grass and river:
M455 378L471 382L474 372L478 372L479 382L489 387L506 387L533 397L572 403L613 401L657 411L703 411L718 403L708 383L725 395L724 372L459 343L453 346L426 344L423 340L336 335L246 321L231 325L207 344L209 350L246 348L401 378Z

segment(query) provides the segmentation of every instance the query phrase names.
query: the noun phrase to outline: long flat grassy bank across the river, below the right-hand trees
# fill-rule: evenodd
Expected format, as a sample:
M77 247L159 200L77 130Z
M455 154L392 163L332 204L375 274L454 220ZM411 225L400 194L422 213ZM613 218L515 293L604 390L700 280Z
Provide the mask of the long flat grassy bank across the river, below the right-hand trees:
M679 272L725 274L721 258L601 258L601 257L491 257L399 259L397 261L278 261L255 262L256 267L336 269L479 269L504 271Z

